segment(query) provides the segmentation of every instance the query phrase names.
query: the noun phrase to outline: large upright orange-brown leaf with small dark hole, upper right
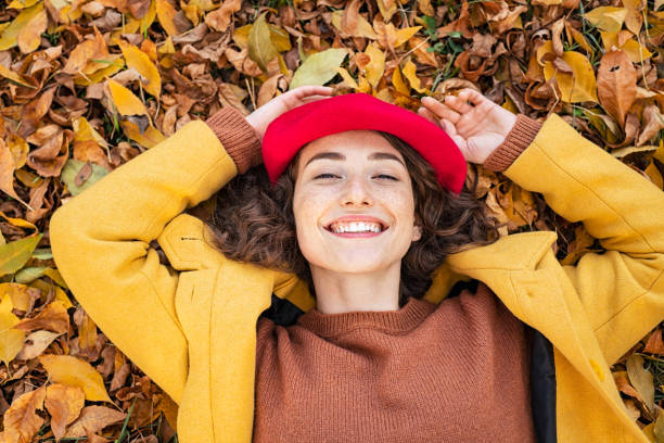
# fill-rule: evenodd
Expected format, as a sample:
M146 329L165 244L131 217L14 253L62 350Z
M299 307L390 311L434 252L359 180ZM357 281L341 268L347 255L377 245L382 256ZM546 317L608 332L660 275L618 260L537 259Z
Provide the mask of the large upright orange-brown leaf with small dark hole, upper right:
M625 51L606 52L597 73L597 93L602 107L623 127L636 92L636 69Z

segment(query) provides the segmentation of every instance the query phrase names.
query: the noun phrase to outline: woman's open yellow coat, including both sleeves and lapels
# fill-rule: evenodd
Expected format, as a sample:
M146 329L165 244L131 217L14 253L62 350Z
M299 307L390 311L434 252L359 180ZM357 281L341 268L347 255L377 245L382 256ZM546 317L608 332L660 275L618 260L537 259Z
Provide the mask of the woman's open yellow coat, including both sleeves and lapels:
M271 294L314 306L293 276L225 258L208 228L181 214L237 174L203 122L192 122L61 206L55 263L94 322L178 403L181 443L252 438L256 319ZM450 255L425 300L460 279L484 281L553 345L558 442L648 442L609 370L664 318L664 193L551 115L505 172L582 220L608 250L561 266L552 231ZM157 240L170 266L159 264ZM472 350L469 350L472 352Z

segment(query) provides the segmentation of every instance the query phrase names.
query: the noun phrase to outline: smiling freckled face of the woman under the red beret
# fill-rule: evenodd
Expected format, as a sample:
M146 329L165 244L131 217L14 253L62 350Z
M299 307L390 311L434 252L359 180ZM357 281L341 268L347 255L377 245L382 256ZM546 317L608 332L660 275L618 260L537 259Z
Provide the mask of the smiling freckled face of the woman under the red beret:
M370 130L333 134L302 150L293 213L312 269L362 274L400 266L421 237L404 157Z

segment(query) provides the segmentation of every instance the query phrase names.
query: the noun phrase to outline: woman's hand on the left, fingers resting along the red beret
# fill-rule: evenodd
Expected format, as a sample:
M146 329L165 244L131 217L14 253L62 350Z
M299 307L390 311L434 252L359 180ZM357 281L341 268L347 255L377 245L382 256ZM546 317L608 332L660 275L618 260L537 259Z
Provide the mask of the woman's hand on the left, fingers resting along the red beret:
M317 100L328 99L333 89L329 86L299 86L281 96L274 97L263 106L246 116L246 121L256 130L263 142L263 136L270 123L286 111L291 111L302 104Z

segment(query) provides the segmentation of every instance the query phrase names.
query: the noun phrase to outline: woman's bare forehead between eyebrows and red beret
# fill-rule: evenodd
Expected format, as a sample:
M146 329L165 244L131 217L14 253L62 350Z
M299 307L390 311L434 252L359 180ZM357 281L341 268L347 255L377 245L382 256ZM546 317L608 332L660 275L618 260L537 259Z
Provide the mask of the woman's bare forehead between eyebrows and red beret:
M346 130L310 141L299 153L301 164L311 156L327 151L339 152L345 156L368 155L373 152L388 152L403 160L401 154L390 141L373 130Z

